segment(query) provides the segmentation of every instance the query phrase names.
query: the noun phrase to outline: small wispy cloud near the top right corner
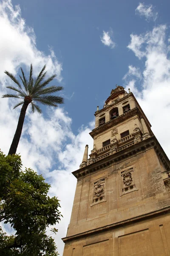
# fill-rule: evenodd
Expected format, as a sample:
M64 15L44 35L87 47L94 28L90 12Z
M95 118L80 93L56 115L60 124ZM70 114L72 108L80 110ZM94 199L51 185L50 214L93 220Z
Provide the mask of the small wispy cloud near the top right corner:
M145 16L145 19L147 21L153 19L154 21L156 20L158 13L154 12L153 6L146 5L144 3L139 3L139 6L135 10L136 14L139 14L140 16Z

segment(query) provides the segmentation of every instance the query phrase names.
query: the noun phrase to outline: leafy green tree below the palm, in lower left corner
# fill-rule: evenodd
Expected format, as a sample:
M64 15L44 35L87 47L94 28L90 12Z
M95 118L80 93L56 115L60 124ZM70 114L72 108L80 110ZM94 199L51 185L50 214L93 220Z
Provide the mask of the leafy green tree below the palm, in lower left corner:
M19 155L0 152L0 221L16 232L7 236L0 227L0 255L56 256L57 247L46 228L59 223L59 201L47 195L50 185L42 175L32 169L23 172L21 167Z

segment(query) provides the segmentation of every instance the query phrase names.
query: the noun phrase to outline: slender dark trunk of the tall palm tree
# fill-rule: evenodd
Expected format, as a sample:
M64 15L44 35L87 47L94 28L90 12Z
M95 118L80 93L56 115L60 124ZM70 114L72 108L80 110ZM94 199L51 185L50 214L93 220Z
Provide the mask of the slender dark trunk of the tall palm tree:
M20 141L20 137L21 137L21 133L22 133L22 129L23 129L23 123L24 123L24 119L25 119L26 110L27 110L28 105L29 105L28 102L23 103L23 107L21 108L20 117L19 117L19 120L18 120L17 129L16 129L16 132L15 132L14 138L12 140L11 147L9 149L8 155L15 154L16 151L17 151L17 146L18 146L18 143Z

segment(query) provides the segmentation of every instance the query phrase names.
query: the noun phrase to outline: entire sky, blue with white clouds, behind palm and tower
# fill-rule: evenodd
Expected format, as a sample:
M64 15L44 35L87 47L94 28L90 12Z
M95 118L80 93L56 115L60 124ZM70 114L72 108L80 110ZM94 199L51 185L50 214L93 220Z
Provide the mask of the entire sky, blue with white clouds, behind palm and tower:
M52 84L64 87L65 104L43 113L26 113L17 149L23 166L51 183L50 196L61 200L64 218L57 226L66 236L85 145L93 148L89 132L94 112L102 108L116 84L136 96L153 133L170 157L170 1L134 0L0 0L0 96L12 84L4 74L34 75L47 64ZM13 84L12 84L13 85ZM16 99L0 99L0 148L8 154L20 107ZM10 233L9 227L3 227Z

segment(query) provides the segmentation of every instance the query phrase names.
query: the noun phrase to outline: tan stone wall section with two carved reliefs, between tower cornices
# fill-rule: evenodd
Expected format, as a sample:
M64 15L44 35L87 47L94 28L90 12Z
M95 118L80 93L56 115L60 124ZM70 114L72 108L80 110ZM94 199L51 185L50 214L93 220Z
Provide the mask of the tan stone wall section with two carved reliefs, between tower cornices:
M151 148L78 180L67 236L170 206L162 171Z

